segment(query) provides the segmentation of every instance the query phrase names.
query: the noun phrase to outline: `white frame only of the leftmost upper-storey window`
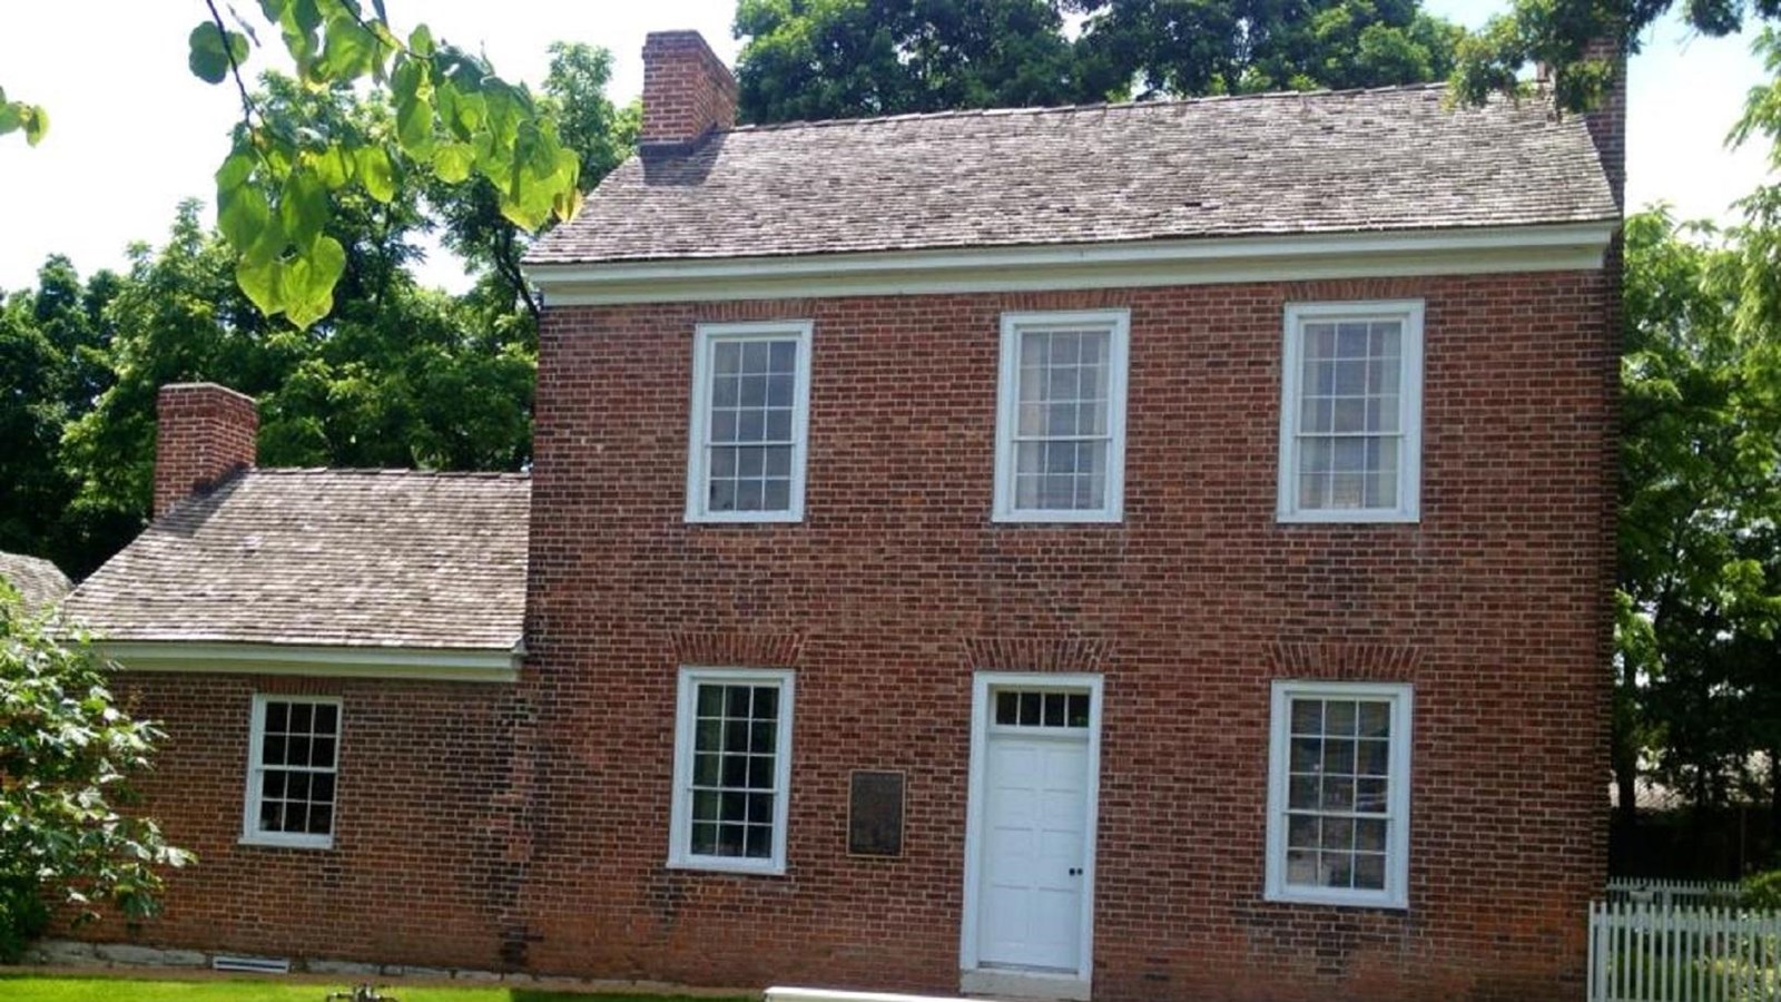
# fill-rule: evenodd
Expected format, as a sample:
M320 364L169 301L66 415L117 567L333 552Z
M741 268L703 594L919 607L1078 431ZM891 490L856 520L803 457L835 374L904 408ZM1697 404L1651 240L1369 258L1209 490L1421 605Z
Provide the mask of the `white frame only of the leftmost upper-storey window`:
M810 440L810 332L812 321L702 323L693 337L693 407L687 421L686 521L687 522L801 522L803 471ZM707 483L711 462L711 357L728 341L798 342L793 387L791 492L789 506L777 512L712 512Z

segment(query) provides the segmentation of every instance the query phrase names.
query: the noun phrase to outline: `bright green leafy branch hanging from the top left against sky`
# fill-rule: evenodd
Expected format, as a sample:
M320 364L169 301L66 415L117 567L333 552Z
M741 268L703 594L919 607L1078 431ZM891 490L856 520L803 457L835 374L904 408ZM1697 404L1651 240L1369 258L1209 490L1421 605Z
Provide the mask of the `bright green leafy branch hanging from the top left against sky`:
M333 308L346 248L326 228L347 187L388 203L410 173L447 184L483 178L502 218L522 230L579 210L581 162L531 91L435 41L426 25L399 37L381 0L370 12L358 0L260 0L303 86L386 87L394 119L374 130L290 128L260 114L242 82L258 36L233 9L239 30L214 0L207 7L210 18L191 32L189 66L210 84L233 78L242 94L242 121L216 175L217 228L240 255L242 292L267 316L308 326Z

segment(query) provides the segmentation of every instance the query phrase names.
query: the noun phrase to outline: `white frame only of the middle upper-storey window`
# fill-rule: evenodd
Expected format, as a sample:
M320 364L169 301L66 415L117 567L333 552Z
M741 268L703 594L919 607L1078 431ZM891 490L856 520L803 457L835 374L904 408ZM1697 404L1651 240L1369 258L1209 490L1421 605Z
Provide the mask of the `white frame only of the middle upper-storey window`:
M1108 332L1108 464L1101 508L1017 508L1013 435L1021 417L1021 335L1031 330L1097 326ZM1001 317L1001 376L996 389L997 522L1118 522L1126 512L1126 364L1131 310L1008 312Z

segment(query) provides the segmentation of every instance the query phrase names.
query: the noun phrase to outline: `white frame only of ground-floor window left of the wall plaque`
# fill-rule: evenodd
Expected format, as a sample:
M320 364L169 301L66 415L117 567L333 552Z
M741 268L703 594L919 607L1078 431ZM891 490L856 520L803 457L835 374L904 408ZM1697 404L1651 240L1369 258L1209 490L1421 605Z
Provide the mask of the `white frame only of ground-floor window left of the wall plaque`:
M698 720L698 686L775 685L780 690L778 735L773 760L773 854L766 859L741 856L696 856L693 833L693 731ZM711 669L682 667L675 713L673 806L668 817L668 866L677 870L716 870L728 874L785 874L785 836L791 818L791 735L794 710L794 672L791 669Z

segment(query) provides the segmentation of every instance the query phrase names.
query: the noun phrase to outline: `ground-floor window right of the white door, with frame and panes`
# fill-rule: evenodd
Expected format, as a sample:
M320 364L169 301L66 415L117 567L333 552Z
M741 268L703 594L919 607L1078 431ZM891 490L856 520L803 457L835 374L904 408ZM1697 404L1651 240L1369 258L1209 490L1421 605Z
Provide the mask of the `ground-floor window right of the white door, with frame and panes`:
M1411 686L1273 683L1270 900L1409 906Z

